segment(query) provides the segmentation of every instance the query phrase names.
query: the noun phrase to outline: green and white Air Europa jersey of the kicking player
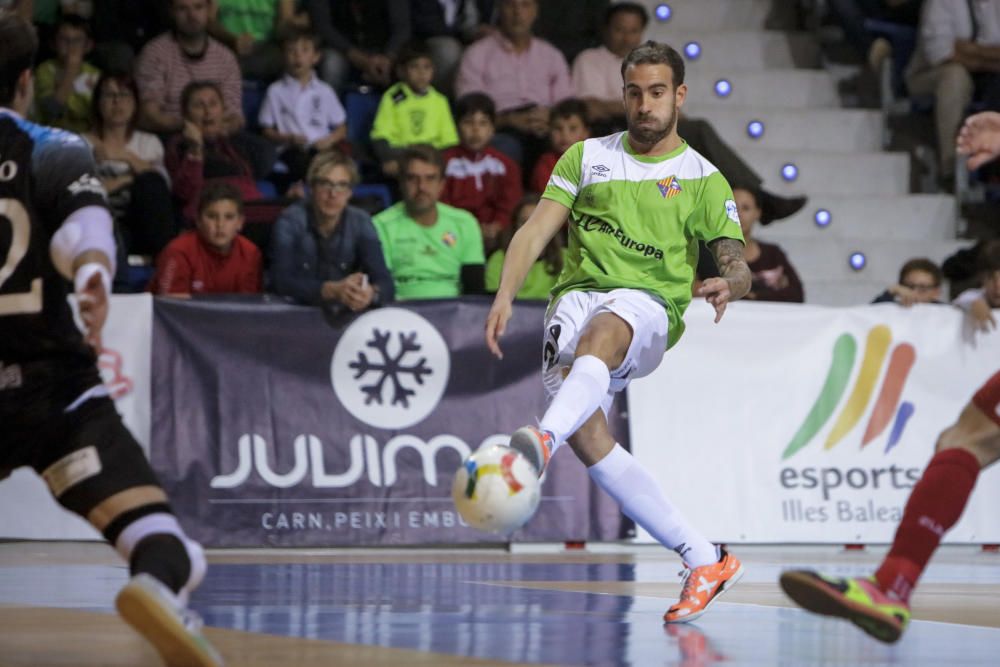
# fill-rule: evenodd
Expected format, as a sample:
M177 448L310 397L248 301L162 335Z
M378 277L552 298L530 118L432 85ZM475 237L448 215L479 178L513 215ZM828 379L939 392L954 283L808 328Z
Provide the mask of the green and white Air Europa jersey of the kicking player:
M626 132L576 143L542 196L570 209L553 302L572 290L643 290L667 310L668 348L684 332L698 241L743 241L729 183L686 142L657 157L636 155Z

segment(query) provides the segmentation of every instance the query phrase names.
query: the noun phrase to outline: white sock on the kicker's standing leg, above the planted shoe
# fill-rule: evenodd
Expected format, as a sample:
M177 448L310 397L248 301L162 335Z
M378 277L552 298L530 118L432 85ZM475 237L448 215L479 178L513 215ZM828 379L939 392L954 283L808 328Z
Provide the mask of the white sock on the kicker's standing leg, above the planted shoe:
M622 512L656 541L676 551L689 567L718 562L719 551L692 528L660 491L656 480L615 443L607 456L587 469L591 478L618 501Z

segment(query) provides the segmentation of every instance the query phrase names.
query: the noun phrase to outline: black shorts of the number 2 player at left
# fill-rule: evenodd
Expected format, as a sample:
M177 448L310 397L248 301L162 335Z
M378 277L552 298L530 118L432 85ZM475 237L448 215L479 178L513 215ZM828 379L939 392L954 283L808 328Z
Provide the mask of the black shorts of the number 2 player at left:
M101 385L96 368L58 361L4 367L0 479L31 466L60 504L83 517L116 493L160 486L110 398L95 396L67 410Z

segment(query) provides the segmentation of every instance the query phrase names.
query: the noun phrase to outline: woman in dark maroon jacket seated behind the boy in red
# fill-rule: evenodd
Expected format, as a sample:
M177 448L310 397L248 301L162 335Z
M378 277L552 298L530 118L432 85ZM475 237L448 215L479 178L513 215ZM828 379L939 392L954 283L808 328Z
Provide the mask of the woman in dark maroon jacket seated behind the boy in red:
M210 180L236 186L244 201L262 199L248 155L226 134L226 106L218 84L192 81L181 105L184 131L167 144L166 164L184 220L195 220L201 189Z

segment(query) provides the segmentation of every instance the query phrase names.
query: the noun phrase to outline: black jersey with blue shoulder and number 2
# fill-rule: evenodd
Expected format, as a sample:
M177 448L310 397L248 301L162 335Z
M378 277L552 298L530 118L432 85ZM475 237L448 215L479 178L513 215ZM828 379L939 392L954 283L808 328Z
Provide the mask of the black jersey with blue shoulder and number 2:
M94 174L80 137L0 110L0 362L93 359L49 243L74 211L106 206Z

